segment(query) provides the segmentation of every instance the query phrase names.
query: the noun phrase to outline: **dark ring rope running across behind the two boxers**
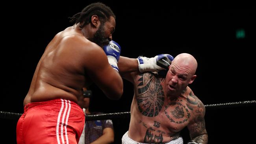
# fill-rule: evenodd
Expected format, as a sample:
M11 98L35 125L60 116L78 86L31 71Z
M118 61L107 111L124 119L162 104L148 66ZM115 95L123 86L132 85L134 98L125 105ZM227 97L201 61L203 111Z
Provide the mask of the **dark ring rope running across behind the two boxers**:
M252 101L243 101L243 102L231 102L231 103L218 103L211 105L204 105L206 109L222 109L222 108L231 108L231 107L241 107L241 106L256 106L256 100ZM18 120L22 114L20 113L9 113L0 111L0 118L9 119L9 120ZM95 114L85 116L85 120L108 120L115 119L120 117L130 117L130 112L121 112L121 113L107 113L107 114Z

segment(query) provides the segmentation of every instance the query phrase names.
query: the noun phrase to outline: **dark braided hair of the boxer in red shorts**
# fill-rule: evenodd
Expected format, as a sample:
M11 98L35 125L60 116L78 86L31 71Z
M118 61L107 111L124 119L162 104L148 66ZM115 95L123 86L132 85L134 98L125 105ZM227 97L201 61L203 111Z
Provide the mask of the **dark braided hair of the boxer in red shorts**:
M86 26L91 22L91 17L93 15L97 15L99 17L100 22L103 24L106 20L109 20L110 16L115 18L115 14L110 9L110 7L102 4L101 2L96 2L85 7L80 13L73 15L70 18L70 22L78 24L79 22L84 22L80 28Z

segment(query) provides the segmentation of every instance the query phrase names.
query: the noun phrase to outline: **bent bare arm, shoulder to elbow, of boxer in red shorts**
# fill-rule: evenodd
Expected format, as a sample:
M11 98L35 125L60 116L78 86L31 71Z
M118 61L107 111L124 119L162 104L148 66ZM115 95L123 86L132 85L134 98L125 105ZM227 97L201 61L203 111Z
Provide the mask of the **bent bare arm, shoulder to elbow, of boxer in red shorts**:
M123 93L122 78L109 65L108 58L102 48L93 46L93 48L88 50L85 61L85 71L104 94L112 100L121 98Z

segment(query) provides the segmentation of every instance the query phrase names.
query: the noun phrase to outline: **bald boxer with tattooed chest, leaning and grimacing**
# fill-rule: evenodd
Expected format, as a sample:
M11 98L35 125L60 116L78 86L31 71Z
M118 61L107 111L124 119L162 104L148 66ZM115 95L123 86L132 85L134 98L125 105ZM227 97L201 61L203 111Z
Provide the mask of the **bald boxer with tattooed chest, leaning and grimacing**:
M157 58L120 57L121 76L134 84L130 126L122 144L183 144L180 131L184 127L191 137L188 144L207 144L205 107L188 87L196 78L196 59L179 54L166 76L161 76L146 72L158 71Z

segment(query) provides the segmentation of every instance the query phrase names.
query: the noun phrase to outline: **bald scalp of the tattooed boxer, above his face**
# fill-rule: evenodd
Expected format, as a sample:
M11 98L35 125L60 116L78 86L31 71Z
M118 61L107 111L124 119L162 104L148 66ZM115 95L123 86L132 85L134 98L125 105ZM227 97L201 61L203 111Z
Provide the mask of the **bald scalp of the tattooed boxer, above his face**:
M177 55L173 59L172 64L178 65L179 67L188 68L191 75L194 75L197 70L197 60L191 54L187 53Z

